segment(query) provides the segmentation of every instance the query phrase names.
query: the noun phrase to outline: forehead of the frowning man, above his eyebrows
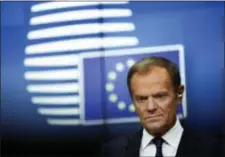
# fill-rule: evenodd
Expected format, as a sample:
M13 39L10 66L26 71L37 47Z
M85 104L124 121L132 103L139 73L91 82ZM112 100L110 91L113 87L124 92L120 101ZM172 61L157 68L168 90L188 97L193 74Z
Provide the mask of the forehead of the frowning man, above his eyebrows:
M152 67L146 73L134 73L131 78L132 91L140 90L169 90L172 82L169 73L165 68Z

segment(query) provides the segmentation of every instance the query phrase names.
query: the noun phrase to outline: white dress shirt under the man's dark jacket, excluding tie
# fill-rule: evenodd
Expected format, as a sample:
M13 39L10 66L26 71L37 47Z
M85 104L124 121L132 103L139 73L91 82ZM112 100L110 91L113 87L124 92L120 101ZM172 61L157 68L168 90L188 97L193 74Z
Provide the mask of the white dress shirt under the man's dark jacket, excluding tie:
M162 145L162 153L164 157L167 156L176 156L177 149L183 134L183 128L180 124L180 121L176 120L175 125L162 136L165 142ZM141 139L141 147L140 147L140 157L148 156L154 157L156 154L156 146L151 141L154 136L150 135L145 129L143 129L143 135Z

